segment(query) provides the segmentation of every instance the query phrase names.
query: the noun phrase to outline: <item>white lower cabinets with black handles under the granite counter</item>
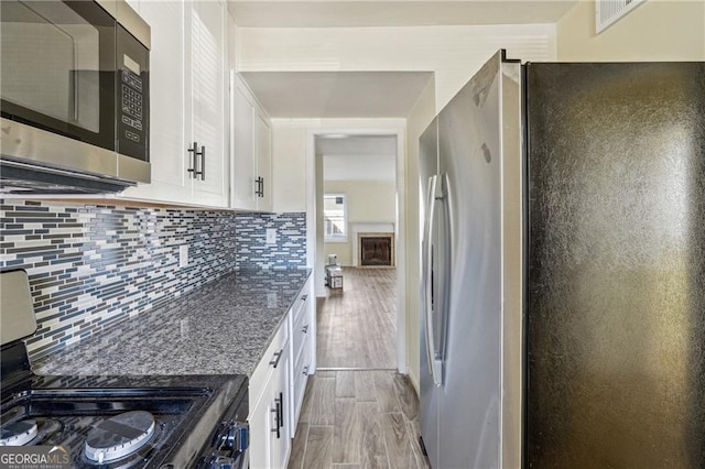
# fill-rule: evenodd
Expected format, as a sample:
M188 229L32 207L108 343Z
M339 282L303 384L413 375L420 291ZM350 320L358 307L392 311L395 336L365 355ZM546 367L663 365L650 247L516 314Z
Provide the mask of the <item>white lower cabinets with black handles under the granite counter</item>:
M250 468L289 463L308 373L314 369L314 296L306 282L250 377Z

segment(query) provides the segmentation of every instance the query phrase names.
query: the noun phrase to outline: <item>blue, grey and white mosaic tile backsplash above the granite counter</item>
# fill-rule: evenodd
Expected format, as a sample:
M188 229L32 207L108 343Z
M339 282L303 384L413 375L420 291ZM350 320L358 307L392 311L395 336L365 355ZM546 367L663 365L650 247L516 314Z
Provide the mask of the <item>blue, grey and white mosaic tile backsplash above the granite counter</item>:
M0 268L30 275L32 359L235 269L305 266L305 214L0 200ZM278 231L265 244L267 228ZM180 246L188 265L180 268Z

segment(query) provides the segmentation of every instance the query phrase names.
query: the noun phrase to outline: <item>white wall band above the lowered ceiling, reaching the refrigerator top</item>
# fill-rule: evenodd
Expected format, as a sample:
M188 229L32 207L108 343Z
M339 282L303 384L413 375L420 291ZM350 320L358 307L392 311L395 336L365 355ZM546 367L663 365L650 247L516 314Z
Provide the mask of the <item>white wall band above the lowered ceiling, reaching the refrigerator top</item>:
M497 50L555 58L555 25L239 28L240 72L434 72L440 110Z

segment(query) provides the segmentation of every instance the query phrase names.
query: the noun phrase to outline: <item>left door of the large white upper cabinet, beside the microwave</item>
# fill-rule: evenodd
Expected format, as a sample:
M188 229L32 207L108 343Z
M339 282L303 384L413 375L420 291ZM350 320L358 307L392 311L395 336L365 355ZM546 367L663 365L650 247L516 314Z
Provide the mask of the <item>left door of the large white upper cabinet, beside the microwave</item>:
M184 108L186 10L181 1L141 1L139 14L152 29L150 51L150 162L152 183L128 188L126 197L189 201Z

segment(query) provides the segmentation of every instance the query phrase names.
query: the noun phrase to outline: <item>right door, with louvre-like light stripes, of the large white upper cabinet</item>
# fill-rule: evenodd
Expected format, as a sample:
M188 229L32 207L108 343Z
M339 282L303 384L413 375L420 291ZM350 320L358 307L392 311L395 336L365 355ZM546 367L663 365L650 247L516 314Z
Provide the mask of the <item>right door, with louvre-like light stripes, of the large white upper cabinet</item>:
M204 149L196 167L203 175L194 179L196 204L227 206L226 157L226 51L227 12L221 1L191 3L191 140Z

